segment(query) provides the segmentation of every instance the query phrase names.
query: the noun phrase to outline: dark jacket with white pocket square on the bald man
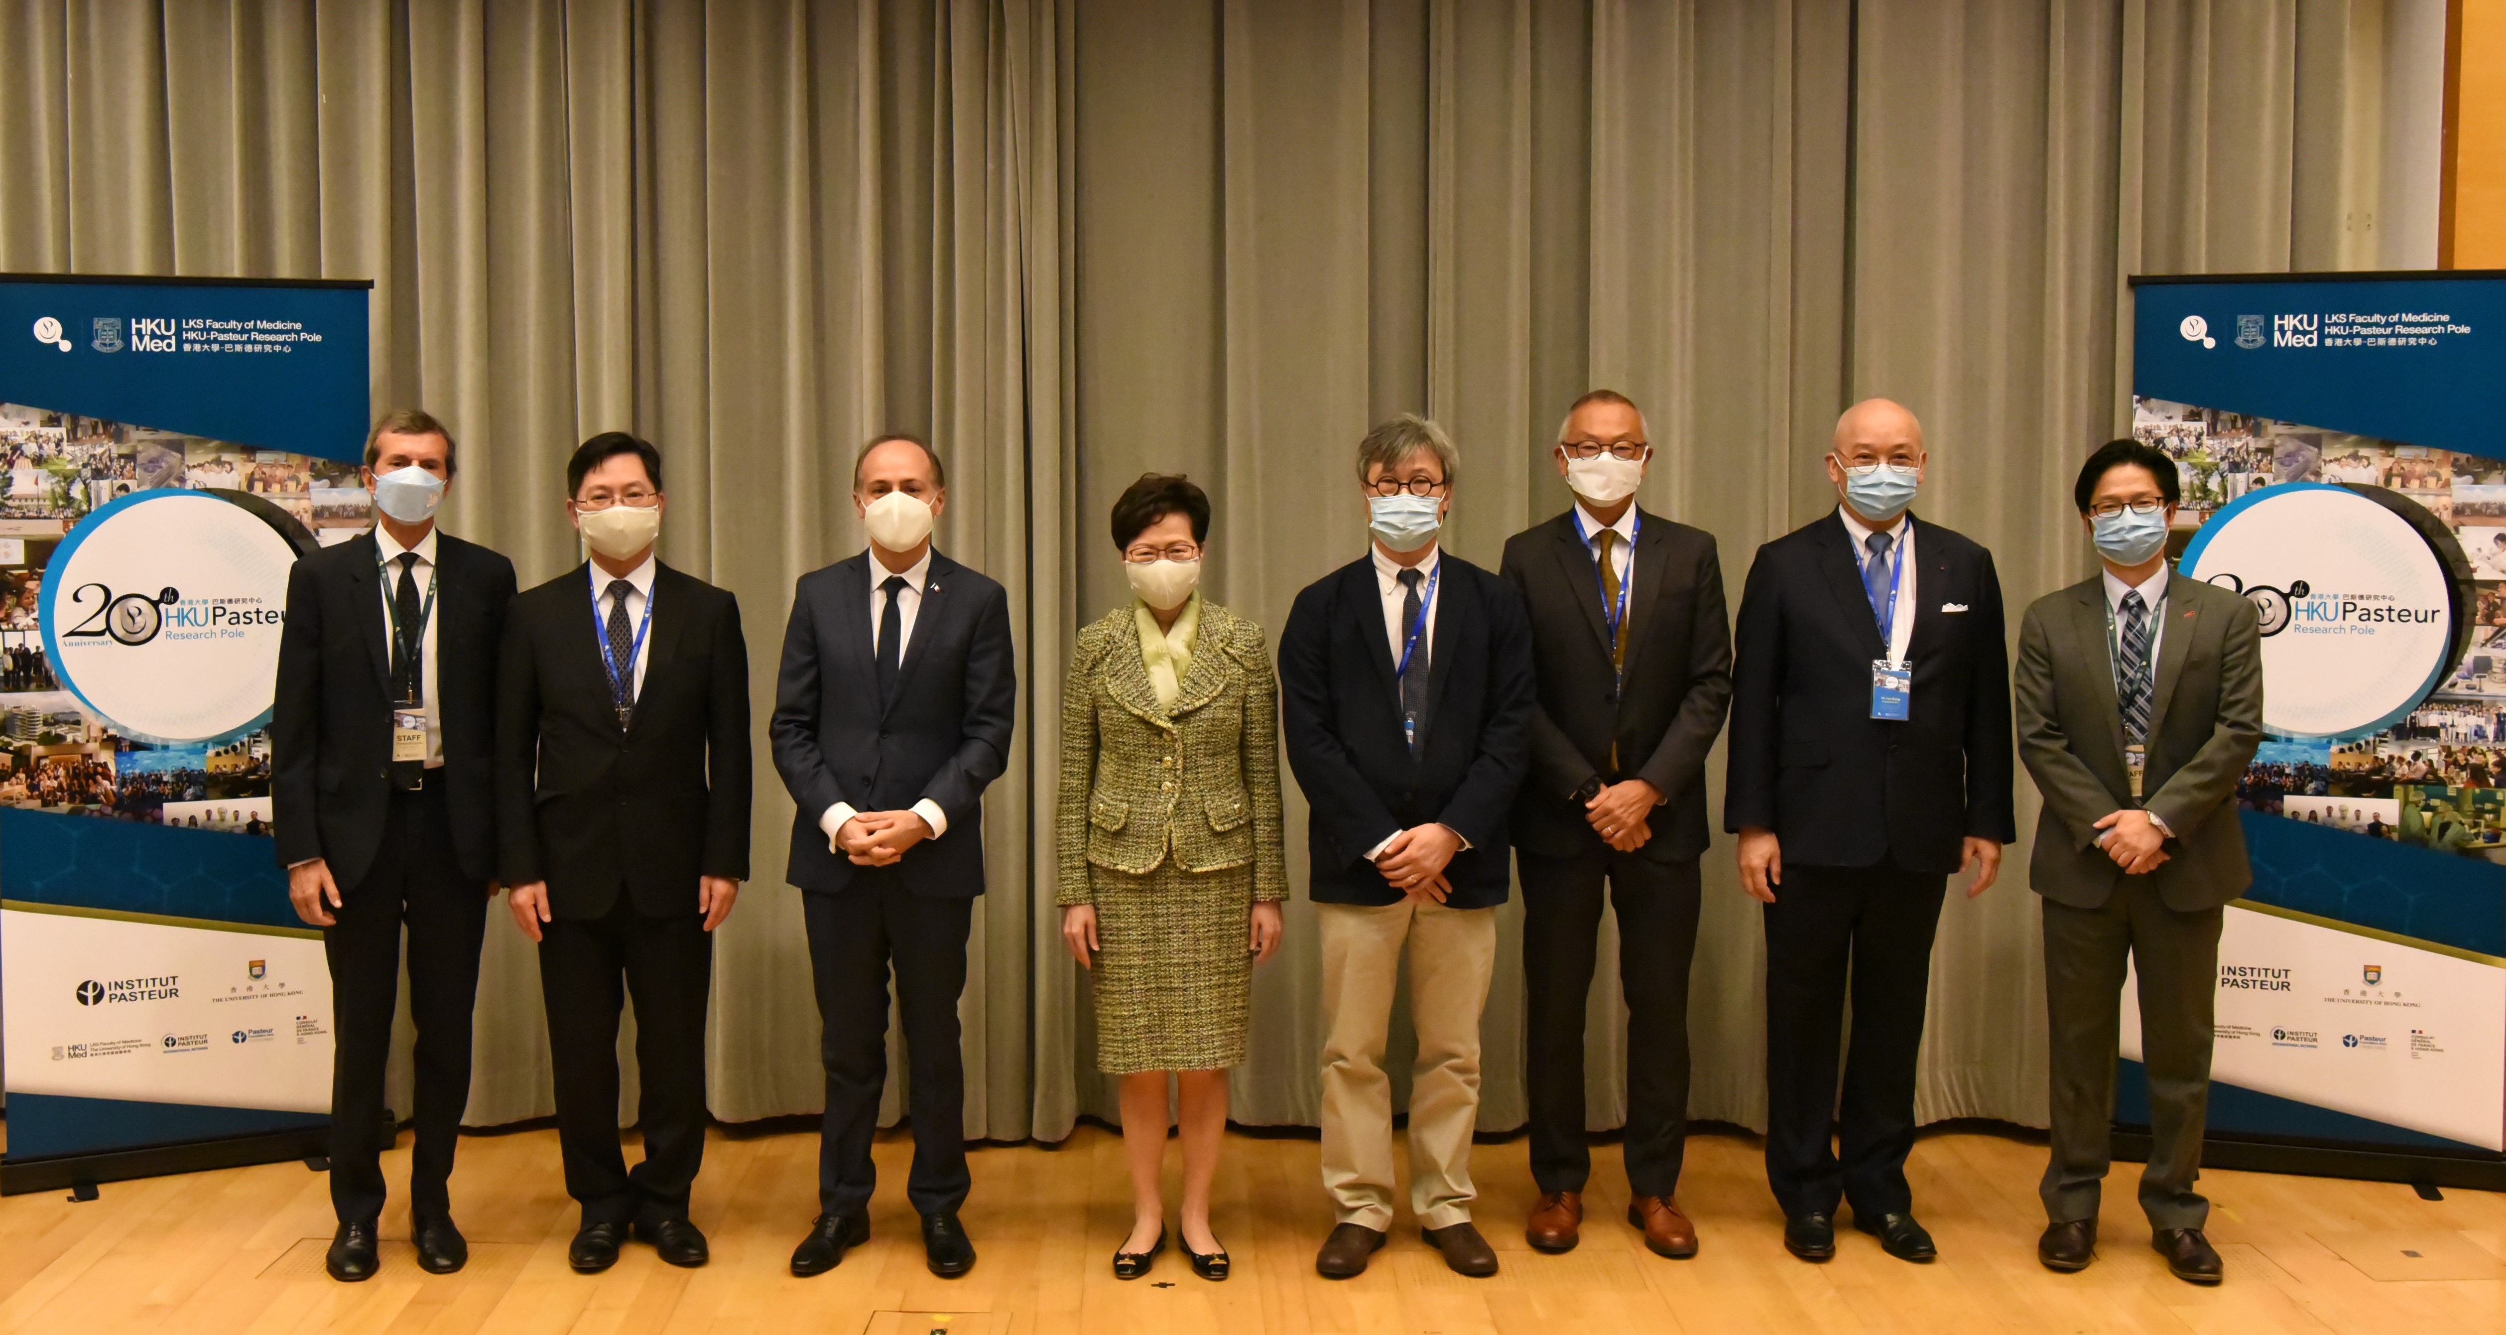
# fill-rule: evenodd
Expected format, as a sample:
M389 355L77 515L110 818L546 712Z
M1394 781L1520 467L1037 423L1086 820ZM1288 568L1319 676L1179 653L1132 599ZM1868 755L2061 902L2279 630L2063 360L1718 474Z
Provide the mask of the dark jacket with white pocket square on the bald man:
M1872 719L1887 656L1837 511L1757 549L1739 599L1724 829L1774 829L1784 864L1957 872L1962 839L2017 839L2010 651L1992 554L1915 523L1915 696ZM1965 611L1950 611L1965 609Z

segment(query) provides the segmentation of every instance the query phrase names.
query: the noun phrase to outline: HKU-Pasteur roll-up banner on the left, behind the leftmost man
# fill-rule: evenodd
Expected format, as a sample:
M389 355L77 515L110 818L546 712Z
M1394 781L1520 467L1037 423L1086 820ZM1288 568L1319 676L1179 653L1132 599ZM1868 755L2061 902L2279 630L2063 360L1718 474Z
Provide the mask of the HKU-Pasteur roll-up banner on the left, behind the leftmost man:
M266 729L368 526L368 288L0 276L0 1192L321 1152Z

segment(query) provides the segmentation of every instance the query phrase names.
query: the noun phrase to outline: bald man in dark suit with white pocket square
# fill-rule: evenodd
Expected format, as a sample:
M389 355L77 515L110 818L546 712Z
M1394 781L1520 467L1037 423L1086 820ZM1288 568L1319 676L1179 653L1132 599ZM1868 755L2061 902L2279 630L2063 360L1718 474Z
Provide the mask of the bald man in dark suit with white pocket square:
M1734 634L1724 829L1767 904L1767 1182L1802 1260L1834 1255L1839 1200L1890 1255L1937 1255L1905 1182L1932 932L1950 872L1982 894L2017 837L2002 584L1907 513L1922 468L1915 413L1847 408L1839 506L1757 551Z

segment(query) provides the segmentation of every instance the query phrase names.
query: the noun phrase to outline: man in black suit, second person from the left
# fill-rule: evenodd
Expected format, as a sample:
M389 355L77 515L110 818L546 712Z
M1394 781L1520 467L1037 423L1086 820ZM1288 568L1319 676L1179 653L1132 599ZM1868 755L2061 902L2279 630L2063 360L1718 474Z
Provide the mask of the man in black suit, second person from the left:
M704 1160L714 927L749 874L749 649L739 601L654 559L662 453L609 431L566 463L591 561L514 599L496 681L496 839L539 942L566 1260L609 1270L632 1230L704 1265L687 1195ZM621 987L624 982L624 987ZM619 1009L634 989L644 1162L619 1152Z

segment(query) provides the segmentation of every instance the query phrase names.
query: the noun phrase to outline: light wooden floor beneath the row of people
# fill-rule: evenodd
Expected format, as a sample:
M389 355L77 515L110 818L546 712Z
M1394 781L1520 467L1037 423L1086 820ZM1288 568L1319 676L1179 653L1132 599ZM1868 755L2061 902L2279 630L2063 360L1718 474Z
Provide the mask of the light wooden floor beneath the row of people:
M1095 1127L1058 1150L977 1150L965 1220L980 1265L965 1280L935 1280L900 1190L910 1155L902 1135L880 1140L872 1242L817 1280L784 1270L814 1212L812 1135L714 1137L694 1202L714 1262L692 1272L657 1262L649 1247L629 1247L606 1275L569 1272L574 1207L544 1130L461 1142L454 1202L471 1265L449 1280L411 1260L396 1200L383 1217L383 1272L363 1285L328 1282L331 1205L323 1177L303 1165L115 1182L85 1205L60 1192L8 1197L0 1332L2506 1330L2501 1195L2423 1202L2398 1185L2213 1172L2210 1235L2228 1282L2198 1290L2168 1277L2148 1250L2130 1197L2138 1165L2118 1165L2123 1190L2108 1192L2098 1265L2052 1275L2035 1262L2045 1150L1997 1135L1917 1145L1917 1212L1942 1250L1930 1267L1890 1260L1849 1230L1839 1230L1829 1265L1787 1257L1757 1142L1699 1135L1682 1180L1702 1235L1697 1260L1659 1260L1624 1225L1616 1147L1596 1152L1584 1245L1564 1257L1526 1250L1521 1217L1534 1190L1514 1140L1481 1145L1474 1160L1479 1225L1504 1257L1499 1277L1451 1275L1403 1222L1376 1265L1346 1282L1313 1272L1331 1225L1316 1142L1230 1137L1218 1215L1235 1255L1225 1285L1193 1277L1173 1250L1150 1280L1113 1280L1108 1257L1130 1222L1128 1182L1120 1140ZM1173 1165L1170 1152L1168 1172ZM406 1180L406 1135L386 1172L393 1185Z

